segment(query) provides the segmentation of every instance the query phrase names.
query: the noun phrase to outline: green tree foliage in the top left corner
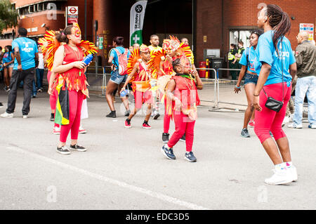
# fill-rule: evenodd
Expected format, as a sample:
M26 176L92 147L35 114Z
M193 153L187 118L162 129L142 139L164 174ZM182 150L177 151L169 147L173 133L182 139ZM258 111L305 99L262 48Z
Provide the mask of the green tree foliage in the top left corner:
M0 32L18 25L18 16L10 0L0 0Z

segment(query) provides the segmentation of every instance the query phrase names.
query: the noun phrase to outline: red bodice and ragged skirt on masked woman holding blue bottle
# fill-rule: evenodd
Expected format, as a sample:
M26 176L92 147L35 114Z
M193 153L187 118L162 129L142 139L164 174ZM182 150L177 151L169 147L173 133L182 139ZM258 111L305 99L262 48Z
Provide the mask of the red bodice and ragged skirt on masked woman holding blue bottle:
M84 52L77 46L78 51L74 51L67 44L64 45L65 48L65 58L62 62L62 65L70 64L75 61L84 60ZM56 79L58 80L58 84L62 82L62 84L67 84L67 88L69 91L82 91L85 95L88 95L88 89L86 88L86 75L84 74L84 69L79 69L77 67L72 67L67 72L63 72L56 75ZM62 85L64 86L64 85ZM63 87L64 88L64 87Z

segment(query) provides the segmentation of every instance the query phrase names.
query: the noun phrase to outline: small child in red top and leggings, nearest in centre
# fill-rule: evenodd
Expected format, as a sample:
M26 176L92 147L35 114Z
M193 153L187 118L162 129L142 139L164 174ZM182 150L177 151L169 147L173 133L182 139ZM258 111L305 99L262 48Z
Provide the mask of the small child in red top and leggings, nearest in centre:
M185 159L189 162L196 162L197 158L192 152L192 145L195 120L197 119L197 106L200 103L197 89L202 89L203 84L197 72L191 70L190 65L187 65L186 58L176 58L176 60L173 60L172 65L176 75L169 81L166 95L172 100L172 106L167 105L167 107L172 107L176 131L171 136L168 144L162 147L162 153L168 159L176 159L176 156L173 154L173 146L185 134L187 151ZM193 73L194 76L190 73Z

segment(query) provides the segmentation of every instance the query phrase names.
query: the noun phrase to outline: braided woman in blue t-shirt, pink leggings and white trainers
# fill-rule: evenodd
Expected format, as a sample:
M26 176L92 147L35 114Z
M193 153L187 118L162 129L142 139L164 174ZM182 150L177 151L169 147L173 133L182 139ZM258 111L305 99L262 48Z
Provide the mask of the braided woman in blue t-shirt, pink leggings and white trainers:
M265 33L259 37L256 48L261 71L254 90L254 131L275 165L275 174L265 179L265 183L281 185L297 180L296 168L291 162L289 140L282 130L282 121L291 97L291 79L296 74L296 61L291 44L289 39L284 37L291 30L291 21L282 8L271 4L261 10L258 27L263 28ZM280 110L271 107L277 104L276 101L273 103L271 98L283 102L283 105L278 104Z

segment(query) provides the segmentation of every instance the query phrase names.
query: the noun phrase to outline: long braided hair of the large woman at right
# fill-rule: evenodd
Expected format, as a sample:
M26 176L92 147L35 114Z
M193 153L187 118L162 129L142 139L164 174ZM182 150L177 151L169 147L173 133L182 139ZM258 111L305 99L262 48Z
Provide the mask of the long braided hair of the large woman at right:
M282 39L285 34L291 31L291 21L289 19L289 15L282 11L282 8L273 4L267 6L265 15L268 16L269 25L273 30L275 30L272 41L273 46L275 46L275 49L277 50L278 39Z

